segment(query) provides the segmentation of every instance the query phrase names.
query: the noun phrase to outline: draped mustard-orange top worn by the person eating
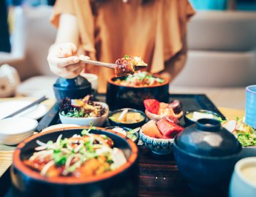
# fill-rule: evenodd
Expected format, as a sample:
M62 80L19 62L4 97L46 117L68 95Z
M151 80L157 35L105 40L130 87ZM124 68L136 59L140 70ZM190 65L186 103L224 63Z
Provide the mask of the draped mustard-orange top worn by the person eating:
M58 27L61 13L75 15L85 55L109 63L124 55L140 56L152 73L163 71L165 61L181 51L187 20L195 13L188 0L91 2L57 0L51 22ZM113 70L86 65L86 72L98 75L98 91L105 92Z

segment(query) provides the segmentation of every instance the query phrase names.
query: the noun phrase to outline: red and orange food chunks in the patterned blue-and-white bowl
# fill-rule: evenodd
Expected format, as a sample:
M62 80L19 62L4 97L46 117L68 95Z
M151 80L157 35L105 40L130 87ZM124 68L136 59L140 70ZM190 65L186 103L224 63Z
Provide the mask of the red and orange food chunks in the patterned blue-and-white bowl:
M147 136L158 139L173 139L178 133L184 130L183 127L173 122L172 118L164 117L161 120L149 120L141 127Z

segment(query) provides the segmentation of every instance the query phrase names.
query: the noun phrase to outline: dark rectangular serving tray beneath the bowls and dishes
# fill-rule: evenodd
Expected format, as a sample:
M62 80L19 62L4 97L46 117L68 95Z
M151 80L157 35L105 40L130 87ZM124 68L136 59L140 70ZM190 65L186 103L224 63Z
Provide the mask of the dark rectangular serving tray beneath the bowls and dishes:
M97 100L105 101L105 94L98 94ZM183 104L183 110L207 109L225 116L217 109L204 94L170 94L169 100L178 99ZM39 121L37 131L42 131L50 125L60 123L59 107L55 104L42 120ZM183 117L181 125L185 125ZM138 144L140 152L140 190L139 196L192 196L187 182L178 173L173 154L155 155L143 145ZM222 193L213 194L223 196ZM10 168L0 177L0 196L13 196L10 181Z

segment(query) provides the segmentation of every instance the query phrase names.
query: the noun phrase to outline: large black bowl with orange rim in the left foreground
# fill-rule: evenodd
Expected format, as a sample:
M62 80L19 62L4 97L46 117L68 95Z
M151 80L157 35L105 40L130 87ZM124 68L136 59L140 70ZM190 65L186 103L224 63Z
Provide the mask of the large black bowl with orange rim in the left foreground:
M13 155L11 169L12 184L18 196L137 196L138 195L138 148L132 140L113 131L97 128L91 131L94 134L105 134L113 139L115 147L120 148L127 163L114 171L108 171L95 177L74 178L56 177L47 178L37 171L29 169L23 160L32 155L36 141L56 141L62 138L80 134L83 128L70 127L53 129L29 137L20 143Z

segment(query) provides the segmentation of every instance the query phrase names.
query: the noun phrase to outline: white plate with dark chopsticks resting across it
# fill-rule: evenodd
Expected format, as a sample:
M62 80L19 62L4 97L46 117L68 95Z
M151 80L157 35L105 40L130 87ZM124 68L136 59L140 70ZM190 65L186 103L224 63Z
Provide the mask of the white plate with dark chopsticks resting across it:
M11 115L13 112L22 109L23 107L31 104L32 101L3 101L0 102L0 120L8 115ZM44 116L47 112L47 108L43 104L38 104L34 107L27 109L24 112L16 115L15 117L31 117L38 120L40 117Z

